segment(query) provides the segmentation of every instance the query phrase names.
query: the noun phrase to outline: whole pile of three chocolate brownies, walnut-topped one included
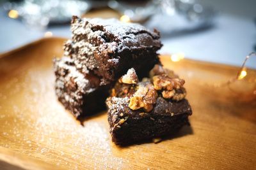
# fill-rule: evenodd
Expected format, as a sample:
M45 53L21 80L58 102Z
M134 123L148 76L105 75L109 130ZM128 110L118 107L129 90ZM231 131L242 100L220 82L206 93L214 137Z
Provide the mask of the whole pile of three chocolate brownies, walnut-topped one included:
M71 31L64 56L54 59L54 72L58 100L76 118L107 105L118 145L172 134L189 124L185 81L161 66L159 32L115 19L78 17L72 18Z

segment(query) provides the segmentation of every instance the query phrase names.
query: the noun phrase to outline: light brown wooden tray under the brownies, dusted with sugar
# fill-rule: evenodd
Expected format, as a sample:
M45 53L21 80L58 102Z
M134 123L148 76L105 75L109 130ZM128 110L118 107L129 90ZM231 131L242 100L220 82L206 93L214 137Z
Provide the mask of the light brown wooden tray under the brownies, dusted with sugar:
M163 55L164 66L186 80L191 127L161 143L119 147L106 111L81 125L56 99L52 58L61 57L63 41L41 39L1 55L0 169L256 168L255 95L216 85L238 67Z

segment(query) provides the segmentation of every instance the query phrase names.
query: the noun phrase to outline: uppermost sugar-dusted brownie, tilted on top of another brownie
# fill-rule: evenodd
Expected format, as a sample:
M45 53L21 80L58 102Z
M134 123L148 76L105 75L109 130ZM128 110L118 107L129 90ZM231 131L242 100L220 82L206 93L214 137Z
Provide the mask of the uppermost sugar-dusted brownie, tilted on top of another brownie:
M100 85L116 81L131 67L144 76L159 63L157 50L162 45L156 30L116 19L72 17L71 31L65 55L74 59L81 73L97 75Z

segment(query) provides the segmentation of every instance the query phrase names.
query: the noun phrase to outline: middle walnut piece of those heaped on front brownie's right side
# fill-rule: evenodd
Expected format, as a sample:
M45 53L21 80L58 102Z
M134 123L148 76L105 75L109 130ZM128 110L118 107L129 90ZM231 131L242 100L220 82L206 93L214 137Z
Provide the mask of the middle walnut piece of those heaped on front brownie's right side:
M161 74L153 77L154 88L156 90L180 89L185 83L180 78L170 78L167 74Z

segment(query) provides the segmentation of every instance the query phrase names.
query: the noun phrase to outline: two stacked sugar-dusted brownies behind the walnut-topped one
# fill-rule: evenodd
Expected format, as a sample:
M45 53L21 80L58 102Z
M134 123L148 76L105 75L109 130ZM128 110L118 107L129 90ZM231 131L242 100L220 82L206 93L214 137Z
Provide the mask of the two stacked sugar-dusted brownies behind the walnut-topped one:
M58 99L77 118L105 108L108 90L129 68L145 76L159 63L157 31L115 19L73 17L71 23L72 39L54 71Z

